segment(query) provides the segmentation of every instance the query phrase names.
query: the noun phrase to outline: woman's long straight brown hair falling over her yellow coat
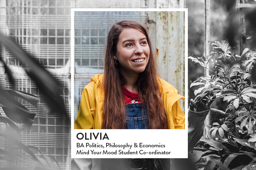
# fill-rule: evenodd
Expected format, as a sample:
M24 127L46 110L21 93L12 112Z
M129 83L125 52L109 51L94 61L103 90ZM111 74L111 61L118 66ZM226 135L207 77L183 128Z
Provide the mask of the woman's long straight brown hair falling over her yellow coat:
M148 37L148 30L139 22L131 20L115 23L108 33L103 78L105 98L102 129L126 129L125 106L122 93L122 86L125 85L126 79L118 69L118 65L114 64L114 55L117 51L116 45L119 35L124 28L133 28L143 33L147 38L150 49L148 64L135 82L139 91L139 97L141 100L144 100L144 104L147 106L148 129L168 129L164 102L159 91L155 55Z

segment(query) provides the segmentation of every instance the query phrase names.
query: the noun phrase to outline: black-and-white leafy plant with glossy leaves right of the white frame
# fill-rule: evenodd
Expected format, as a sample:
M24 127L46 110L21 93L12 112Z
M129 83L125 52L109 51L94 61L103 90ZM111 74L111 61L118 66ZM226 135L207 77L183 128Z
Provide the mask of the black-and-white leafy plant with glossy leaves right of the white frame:
M214 45L213 51L209 56L188 57L193 62L200 63L211 73L191 83L190 87L197 88L195 95L204 90L211 90L212 94L205 96L203 100L210 100L211 95L216 95L216 99L222 98L223 101L228 102L225 118L213 123L208 133L207 143L212 141L215 144L210 147L212 152L209 149L203 150L202 157L207 155L211 161L214 159L217 161L217 163L211 163L210 169L224 166L238 170L242 169L240 166L254 160L256 154L256 83L252 79L256 51L245 48L240 56L231 52L227 41L216 41L212 45ZM210 62L215 65L212 70L207 67ZM249 162L242 161L249 160L249 157ZM233 161L237 166L234 166ZM222 164L217 165L219 163Z

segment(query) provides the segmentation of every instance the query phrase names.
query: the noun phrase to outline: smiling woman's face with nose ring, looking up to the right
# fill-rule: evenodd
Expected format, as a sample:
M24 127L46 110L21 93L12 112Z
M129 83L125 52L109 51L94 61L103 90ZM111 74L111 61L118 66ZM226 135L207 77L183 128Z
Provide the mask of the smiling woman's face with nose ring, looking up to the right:
M147 38L143 33L133 28L123 29L114 56L122 74L132 76L143 72L148 64L149 53Z

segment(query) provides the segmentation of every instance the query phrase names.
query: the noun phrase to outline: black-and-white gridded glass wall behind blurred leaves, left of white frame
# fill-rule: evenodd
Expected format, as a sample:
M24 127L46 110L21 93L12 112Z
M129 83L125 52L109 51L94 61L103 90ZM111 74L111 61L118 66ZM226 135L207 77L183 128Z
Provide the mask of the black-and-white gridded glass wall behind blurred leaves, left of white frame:
M31 52L35 58L51 69L59 78L65 88L61 89L65 107L70 115L70 4L72 0L5 0L0 2L0 28L6 30L6 34L15 38L21 47ZM35 83L26 76L21 64L8 50L1 46L1 55L7 65L10 65L17 78L17 90L32 93L39 98ZM24 72L24 73L22 73ZM9 88L9 80L0 67L1 87ZM67 162L68 149L70 147L70 125L64 124L65 119L51 113L43 100L38 103L38 108L19 101L30 111L37 113L32 130L20 133L19 140L24 144L32 144L41 152L50 153L59 163L60 167L70 169ZM4 115L3 109L0 112ZM9 127L9 126L8 126ZM7 126L0 123L1 132L7 131ZM12 136L17 133L9 127L8 132ZM3 137L0 137L0 146L4 149L12 149L14 145ZM1 148L2 149L2 148ZM9 150L8 149L8 150ZM22 152L22 151L20 151ZM41 154L33 150L35 154ZM25 153L24 153L25 154ZM41 155L42 156L42 155ZM52 160L54 162L54 160ZM0 166L26 166L24 162L13 159L1 159Z

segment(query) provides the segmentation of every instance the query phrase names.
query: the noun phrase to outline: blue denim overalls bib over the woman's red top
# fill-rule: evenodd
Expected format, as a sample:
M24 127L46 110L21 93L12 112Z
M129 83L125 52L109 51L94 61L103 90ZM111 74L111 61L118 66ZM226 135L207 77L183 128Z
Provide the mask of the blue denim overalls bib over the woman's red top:
M125 111L127 129L148 129L148 114L145 103L126 104Z

